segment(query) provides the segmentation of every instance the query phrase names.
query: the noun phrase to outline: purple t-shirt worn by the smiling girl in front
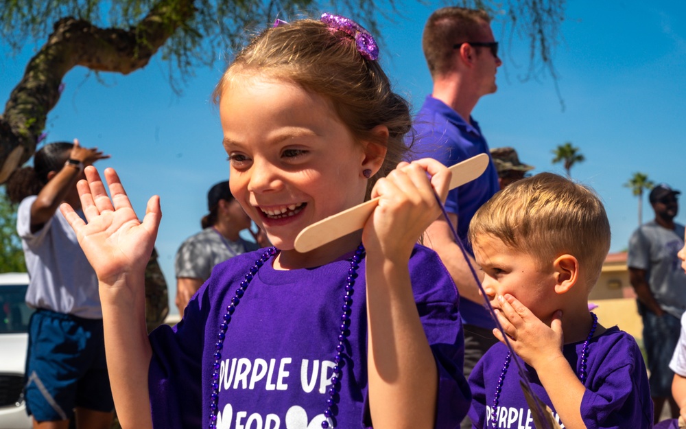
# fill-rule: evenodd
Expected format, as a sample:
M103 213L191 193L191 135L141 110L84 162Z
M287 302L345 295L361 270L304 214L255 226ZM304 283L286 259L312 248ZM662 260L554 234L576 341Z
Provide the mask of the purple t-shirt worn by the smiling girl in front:
M217 265L183 320L150 334L150 401L156 428L209 424L215 344L226 307L261 251ZM327 408L350 263L280 271L260 268L233 314L220 364L217 428L320 428ZM365 260L353 294L342 367L338 428L371 427L366 371ZM416 246L410 275L417 310L436 358L436 428L456 428L469 408L458 292L433 251ZM423 398L418 397L421 401Z

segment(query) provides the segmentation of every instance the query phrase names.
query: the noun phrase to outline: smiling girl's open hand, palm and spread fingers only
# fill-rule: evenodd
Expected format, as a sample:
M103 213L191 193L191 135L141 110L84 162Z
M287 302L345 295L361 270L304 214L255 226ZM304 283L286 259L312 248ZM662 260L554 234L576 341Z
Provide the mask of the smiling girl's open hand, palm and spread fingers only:
M150 198L140 222L115 170L106 168L104 172L111 200L95 167L86 167L84 172L86 181L79 181L77 187L88 223L68 204L62 204L60 210L76 232L88 262L98 280L110 286L129 276L142 278L162 217L159 197Z

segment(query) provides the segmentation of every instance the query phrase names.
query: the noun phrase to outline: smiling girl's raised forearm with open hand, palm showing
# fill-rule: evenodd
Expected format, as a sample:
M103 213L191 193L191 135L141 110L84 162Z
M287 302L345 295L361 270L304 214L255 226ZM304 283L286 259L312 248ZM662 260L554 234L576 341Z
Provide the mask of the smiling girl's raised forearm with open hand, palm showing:
M147 202L140 222L115 170L105 170L112 199L94 167L79 181L84 222L67 204L60 207L76 232L99 283L105 352L117 417L124 428L152 429L147 376L152 348L145 327L145 266L162 216L158 196Z

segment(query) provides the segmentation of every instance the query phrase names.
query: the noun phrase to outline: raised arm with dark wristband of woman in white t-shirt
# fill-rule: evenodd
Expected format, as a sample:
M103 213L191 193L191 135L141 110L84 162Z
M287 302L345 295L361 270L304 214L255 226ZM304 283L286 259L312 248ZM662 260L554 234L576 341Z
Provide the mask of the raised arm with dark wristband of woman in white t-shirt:
M109 158L97 148L82 148L78 139L74 139L74 146L69 153L69 159L79 161L83 166L91 165L98 159ZM81 167L74 164L64 164L58 172L50 172L48 183L38 192L38 198L31 205L31 231L35 233L54 216L60 204L72 192L74 185L82 178Z

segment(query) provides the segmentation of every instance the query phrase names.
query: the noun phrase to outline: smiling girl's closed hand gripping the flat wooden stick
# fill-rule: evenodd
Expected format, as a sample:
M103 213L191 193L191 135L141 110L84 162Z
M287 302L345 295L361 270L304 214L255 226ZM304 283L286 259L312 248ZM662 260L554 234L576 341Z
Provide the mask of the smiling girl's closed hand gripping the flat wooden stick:
M421 234L440 215L436 195L445 201L451 172L435 159L401 162L377 181L372 198L381 197L364 227L362 241L386 255L400 249L410 256ZM434 194L435 192L435 194Z

